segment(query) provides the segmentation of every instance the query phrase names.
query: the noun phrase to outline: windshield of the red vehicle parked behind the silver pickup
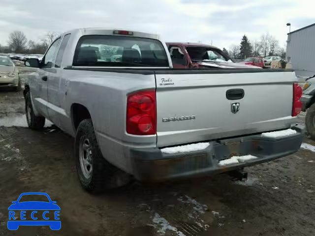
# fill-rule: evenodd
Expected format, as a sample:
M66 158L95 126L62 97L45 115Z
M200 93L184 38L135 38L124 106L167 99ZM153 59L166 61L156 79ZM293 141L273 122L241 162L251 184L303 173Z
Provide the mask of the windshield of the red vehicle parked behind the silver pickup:
M220 49L207 47L187 47L189 57L192 61L228 61L229 58L223 56Z

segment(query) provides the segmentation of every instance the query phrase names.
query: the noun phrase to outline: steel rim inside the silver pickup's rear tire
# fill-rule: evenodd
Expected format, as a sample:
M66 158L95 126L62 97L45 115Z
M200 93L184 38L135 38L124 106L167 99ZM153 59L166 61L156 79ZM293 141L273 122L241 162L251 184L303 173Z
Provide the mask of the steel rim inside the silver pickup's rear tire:
M79 160L82 174L85 178L92 176L92 148L90 140L86 136L80 138L79 143Z

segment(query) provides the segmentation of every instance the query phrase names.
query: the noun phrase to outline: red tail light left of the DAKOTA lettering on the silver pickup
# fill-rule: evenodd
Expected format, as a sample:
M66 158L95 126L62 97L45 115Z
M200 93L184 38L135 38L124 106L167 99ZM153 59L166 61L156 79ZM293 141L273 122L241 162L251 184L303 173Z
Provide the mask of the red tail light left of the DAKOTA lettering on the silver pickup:
M131 93L127 97L126 131L128 134L157 133L156 90Z

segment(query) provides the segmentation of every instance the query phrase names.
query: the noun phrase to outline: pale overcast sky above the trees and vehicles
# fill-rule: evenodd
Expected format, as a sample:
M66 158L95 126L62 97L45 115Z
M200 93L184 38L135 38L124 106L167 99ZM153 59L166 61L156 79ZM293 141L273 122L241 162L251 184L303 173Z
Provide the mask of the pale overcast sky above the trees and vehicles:
M47 31L106 27L220 48L268 31L284 46L285 24L292 31L315 23L314 9L312 0L0 0L0 44L13 30L39 41Z

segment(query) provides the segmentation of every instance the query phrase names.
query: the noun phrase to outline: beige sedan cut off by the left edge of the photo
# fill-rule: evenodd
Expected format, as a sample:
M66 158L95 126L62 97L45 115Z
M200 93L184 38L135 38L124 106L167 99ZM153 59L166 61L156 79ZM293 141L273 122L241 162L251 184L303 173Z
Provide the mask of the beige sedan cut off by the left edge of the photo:
M9 87L21 90L19 71L13 61L5 54L0 54L0 88Z

